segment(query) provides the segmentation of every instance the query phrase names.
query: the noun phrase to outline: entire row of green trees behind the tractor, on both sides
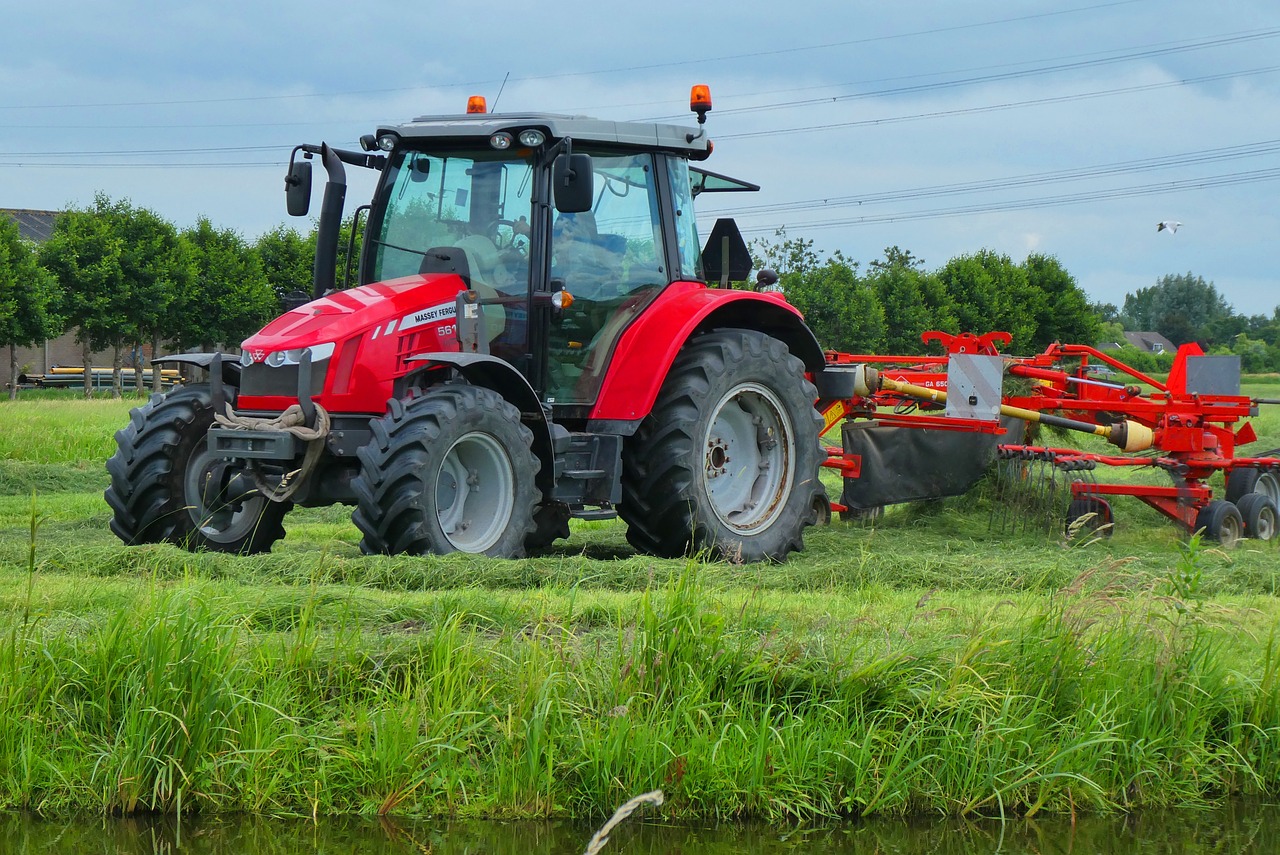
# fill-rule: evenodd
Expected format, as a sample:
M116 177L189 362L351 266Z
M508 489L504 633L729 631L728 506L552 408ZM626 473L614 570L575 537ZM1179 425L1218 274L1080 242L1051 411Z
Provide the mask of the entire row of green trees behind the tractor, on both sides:
M351 221L339 241L347 268ZM0 218L0 346L9 346L10 396L17 393L17 348L74 332L90 355L111 351L113 393L132 356L142 387L143 344L159 352L238 343L280 312L285 297L311 283L315 229L301 236L279 225L255 242L201 218L178 229L128 200L97 195L61 215L49 241L35 246ZM1239 315L1211 282L1166 275L1126 294L1124 305L1091 303L1052 256L1020 262L989 250L951 259L936 270L906 250L888 247L860 269L841 252L823 259L814 242L780 229L753 244L756 268L772 268L780 285L823 347L852 353L925 352L920 334L1012 335L1011 353L1052 342L1124 342L1124 330L1157 332L1175 344L1199 342L1211 353L1236 353L1249 372L1280 371L1280 307ZM358 241L356 242L358 253ZM1133 347L1120 358L1143 371L1167 369L1172 355ZM152 388L160 375L154 372ZM86 394L92 394L88 371Z

